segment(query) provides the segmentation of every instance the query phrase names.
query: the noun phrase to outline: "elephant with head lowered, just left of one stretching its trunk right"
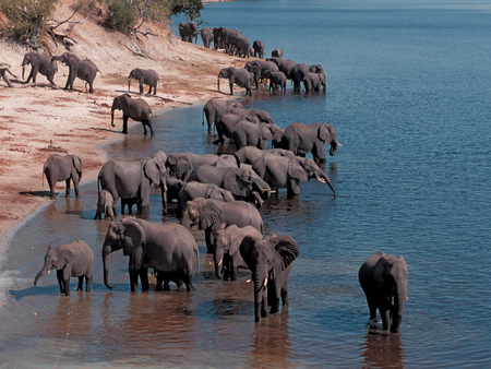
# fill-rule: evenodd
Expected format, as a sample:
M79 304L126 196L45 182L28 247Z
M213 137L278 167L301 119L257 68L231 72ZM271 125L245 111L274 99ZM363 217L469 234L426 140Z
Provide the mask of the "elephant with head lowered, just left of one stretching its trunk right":
M270 186L250 168L216 168L202 165L195 168L188 181L214 183L231 192L236 200L253 202L261 207L263 200L271 197Z

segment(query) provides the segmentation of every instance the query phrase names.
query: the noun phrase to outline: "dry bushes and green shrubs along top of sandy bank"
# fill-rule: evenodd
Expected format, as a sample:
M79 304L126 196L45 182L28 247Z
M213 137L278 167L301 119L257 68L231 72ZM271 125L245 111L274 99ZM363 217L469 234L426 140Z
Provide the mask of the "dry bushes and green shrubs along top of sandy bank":
M87 17L96 14L101 16L107 27L123 34L136 34L145 21L167 22L179 13L195 20L203 9L202 0L79 0L68 20L55 22L52 13L58 1L0 0L0 36L37 50L44 47L45 37L56 41L56 28L75 13Z

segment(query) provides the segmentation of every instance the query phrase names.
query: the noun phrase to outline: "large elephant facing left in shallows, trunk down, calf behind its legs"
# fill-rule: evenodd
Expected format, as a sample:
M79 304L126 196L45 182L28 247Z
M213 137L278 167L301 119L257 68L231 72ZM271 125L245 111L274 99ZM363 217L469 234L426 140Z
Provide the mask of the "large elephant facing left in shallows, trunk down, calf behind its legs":
M103 245L104 284L109 284L109 254L123 249L123 254L130 257L129 274L131 291L137 290L139 277L142 290L148 290L148 267L160 272L161 279L168 286L168 281L182 281L187 290L193 288L193 258L199 262L197 243L191 233L177 223L153 223L134 217L121 222L112 222ZM199 267L197 267L199 269Z

